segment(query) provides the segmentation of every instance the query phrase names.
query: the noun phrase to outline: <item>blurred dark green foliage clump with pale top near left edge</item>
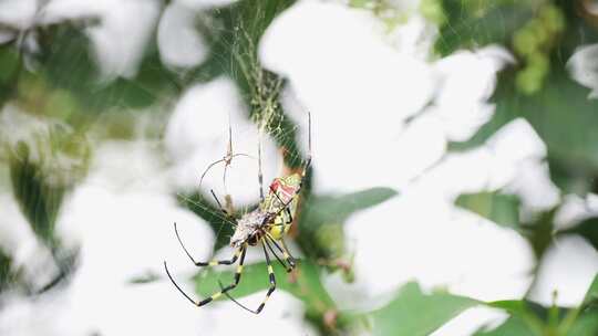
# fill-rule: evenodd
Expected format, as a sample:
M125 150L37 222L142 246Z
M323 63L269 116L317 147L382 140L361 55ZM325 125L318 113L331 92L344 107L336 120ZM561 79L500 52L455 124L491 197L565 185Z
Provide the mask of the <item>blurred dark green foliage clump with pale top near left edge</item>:
M13 195L33 232L49 248L56 248L53 234L65 192L85 175L90 151L84 137L63 125L40 127L14 145L9 155Z

